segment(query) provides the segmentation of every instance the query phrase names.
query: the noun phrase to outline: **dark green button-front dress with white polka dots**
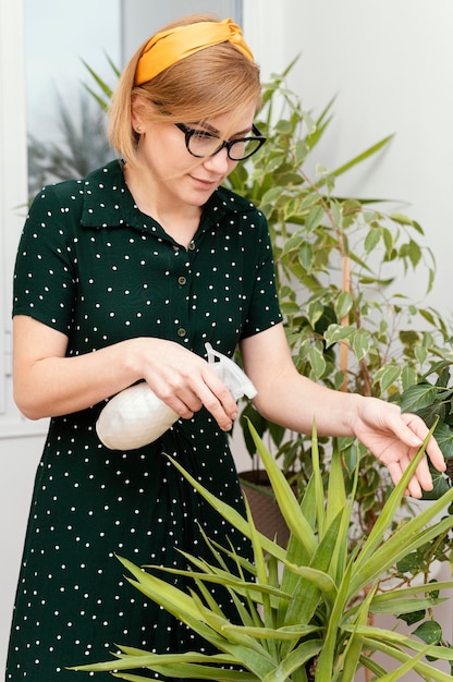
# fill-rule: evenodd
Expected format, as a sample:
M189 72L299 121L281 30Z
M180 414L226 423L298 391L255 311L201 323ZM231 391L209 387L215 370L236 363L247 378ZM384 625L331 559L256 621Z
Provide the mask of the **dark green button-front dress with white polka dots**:
M240 339L281 320L266 220L219 188L185 249L139 211L113 161L36 197L19 247L14 314L65 333L69 356L138 336L170 339L199 355L209 341L231 356ZM209 413L123 452L97 438L103 404L51 419L17 587L9 682L87 679L66 667L110 659L117 644L159 653L199 646L128 585L115 555L166 567L184 565L179 550L210 558L200 528L249 551L164 455L242 509L228 436ZM225 596L217 598L230 612Z

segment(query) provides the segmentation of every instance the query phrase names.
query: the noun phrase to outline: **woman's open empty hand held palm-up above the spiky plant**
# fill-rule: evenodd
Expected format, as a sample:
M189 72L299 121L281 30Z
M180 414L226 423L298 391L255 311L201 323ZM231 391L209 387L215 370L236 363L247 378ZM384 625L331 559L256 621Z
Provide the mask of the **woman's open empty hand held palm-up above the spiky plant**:
M395 485L418 452L429 430L417 415L401 413L396 405L375 398L360 401L352 428L364 446L388 467ZM427 447L427 454L439 472L445 471L443 454L432 437ZM432 478L425 454L408 484L406 494L419 498L423 490L431 489Z

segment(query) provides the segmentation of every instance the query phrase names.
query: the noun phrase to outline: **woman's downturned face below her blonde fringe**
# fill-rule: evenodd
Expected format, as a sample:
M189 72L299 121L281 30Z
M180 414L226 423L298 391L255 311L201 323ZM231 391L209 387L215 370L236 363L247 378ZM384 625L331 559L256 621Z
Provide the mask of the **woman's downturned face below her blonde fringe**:
M181 121L196 129L220 137L213 144L221 144L228 132L228 139L249 136L255 108L250 106L244 113L236 112L204 121ZM228 157L226 148L215 156L196 158L186 148L185 134L174 123L144 122L133 114L135 129L140 126L139 157L143 162L144 180L150 191L155 188L161 200L175 205L204 206L212 192L235 168L237 161Z

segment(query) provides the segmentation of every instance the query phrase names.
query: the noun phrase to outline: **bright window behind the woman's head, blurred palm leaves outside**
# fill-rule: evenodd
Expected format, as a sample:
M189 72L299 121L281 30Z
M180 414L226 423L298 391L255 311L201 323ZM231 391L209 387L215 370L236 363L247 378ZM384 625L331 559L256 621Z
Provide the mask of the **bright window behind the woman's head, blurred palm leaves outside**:
M112 157L86 64L110 87L137 46L182 14L241 22L241 0L24 0L28 192L83 178ZM183 7L182 7L183 5ZM85 84L85 86L84 86Z

